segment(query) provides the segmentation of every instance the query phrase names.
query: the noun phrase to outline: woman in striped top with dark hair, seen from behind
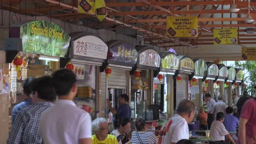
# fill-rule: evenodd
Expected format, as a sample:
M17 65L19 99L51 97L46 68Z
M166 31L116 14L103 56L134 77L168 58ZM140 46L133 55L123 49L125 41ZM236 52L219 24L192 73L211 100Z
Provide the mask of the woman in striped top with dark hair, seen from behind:
M147 131L146 121L139 118L135 122L137 131L132 132L131 143L152 144L156 143L156 136Z

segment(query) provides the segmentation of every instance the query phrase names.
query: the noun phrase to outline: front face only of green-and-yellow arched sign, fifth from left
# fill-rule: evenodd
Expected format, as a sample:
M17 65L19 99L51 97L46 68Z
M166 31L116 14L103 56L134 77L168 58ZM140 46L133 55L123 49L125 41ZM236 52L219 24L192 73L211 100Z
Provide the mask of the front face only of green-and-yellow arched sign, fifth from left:
M179 69L179 58L173 54L167 55L165 58L162 58L161 62L162 69Z

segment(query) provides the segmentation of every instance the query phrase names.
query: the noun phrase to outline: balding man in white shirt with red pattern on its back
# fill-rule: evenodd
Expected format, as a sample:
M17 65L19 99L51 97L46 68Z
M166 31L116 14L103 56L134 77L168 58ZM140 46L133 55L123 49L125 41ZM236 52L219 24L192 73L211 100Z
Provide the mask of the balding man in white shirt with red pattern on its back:
M159 144L174 144L182 139L189 139L190 123L195 116L195 104L190 100L182 100L176 115L172 116L159 131Z

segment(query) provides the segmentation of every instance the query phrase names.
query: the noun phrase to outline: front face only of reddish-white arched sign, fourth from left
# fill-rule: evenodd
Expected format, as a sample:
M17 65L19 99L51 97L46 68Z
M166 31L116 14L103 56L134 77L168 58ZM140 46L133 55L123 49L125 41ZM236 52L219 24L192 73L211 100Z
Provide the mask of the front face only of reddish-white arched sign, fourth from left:
M150 67L160 67L161 57L155 50L145 50L139 53L139 64L147 65Z

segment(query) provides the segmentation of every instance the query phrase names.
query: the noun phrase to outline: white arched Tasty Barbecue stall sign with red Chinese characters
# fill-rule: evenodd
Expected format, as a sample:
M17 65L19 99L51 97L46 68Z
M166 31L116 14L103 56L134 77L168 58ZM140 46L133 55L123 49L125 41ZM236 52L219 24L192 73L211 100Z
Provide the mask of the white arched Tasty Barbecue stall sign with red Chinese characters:
M89 32L73 32L69 57L79 64L102 65L107 59L108 46L98 35Z

